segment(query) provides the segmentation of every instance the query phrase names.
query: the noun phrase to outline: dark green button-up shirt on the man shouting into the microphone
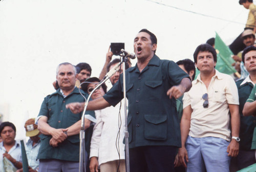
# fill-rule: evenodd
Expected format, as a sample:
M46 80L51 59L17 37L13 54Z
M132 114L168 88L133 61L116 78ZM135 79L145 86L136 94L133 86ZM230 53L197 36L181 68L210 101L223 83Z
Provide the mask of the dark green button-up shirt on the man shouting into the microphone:
M189 76L174 61L156 55L140 72L137 64L125 71L129 101L127 125L129 147L147 145L181 146L176 99L166 95L173 85ZM103 98L115 106L123 99L123 76Z

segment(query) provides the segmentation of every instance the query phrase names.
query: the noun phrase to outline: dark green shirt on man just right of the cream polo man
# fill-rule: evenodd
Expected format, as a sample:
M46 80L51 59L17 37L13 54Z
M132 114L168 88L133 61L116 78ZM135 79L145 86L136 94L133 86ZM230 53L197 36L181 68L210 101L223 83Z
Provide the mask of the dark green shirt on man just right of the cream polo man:
M256 117L253 116L243 116L243 109L246 100L248 99L253 84L246 82L241 85L244 80L239 80L236 82L238 87L239 95L239 114L240 114L240 133L239 137L241 141L239 142L240 150L250 150L253 130L256 125Z

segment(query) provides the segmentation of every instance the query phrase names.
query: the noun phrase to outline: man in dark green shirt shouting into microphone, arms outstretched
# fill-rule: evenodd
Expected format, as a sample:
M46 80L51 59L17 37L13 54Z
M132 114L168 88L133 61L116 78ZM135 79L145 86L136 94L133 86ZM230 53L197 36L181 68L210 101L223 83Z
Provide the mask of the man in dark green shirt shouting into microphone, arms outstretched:
M125 72L132 172L174 171L176 149L181 146L176 99L191 88L191 81L174 61L160 60L156 49L156 36L142 29L134 39L138 61ZM103 97L90 101L87 110L103 109L120 102L123 99L122 77ZM66 107L78 113L84 103L70 103Z

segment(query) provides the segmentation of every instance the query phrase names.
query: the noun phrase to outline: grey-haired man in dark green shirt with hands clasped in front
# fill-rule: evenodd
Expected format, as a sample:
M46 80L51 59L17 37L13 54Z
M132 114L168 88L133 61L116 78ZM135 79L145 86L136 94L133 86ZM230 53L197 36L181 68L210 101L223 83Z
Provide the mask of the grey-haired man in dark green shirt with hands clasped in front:
M57 67L56 79L59 89L45 97L38 114L38 130L41 132L41 145L37 159L39 171L77 172L79 169L79 131L82 113L73 114L65 108L67 103L84 101L75 87L76 68L68 62ZM82 94L85 95L83 91ZM95 120L94 112L87 111L91 120ZM84 128L91 121L85 119Z

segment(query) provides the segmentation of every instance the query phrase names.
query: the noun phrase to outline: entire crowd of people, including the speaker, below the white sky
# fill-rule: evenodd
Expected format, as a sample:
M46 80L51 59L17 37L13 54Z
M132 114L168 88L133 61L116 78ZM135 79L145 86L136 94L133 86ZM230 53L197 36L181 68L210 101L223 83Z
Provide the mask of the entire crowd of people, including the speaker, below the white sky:
M229 46L233 66L241 73L236 81L215 69L214 39L196 48L194 61L175 63L156 55L157 37L147 29L134 38L136 65L126 58L125 66L110 77L112 88L103 83L95 90L121 61L112 59L111 49L99 77L91 77L86 62L60 63L56 92L45 97L38 116L24 125L29 171L79 170L81 117L90 94L83 126L87 171L126 171L125 111L132 172L237 171L255 164L256 6L251 0L239 3L249 16L245 30ZM200 74L195 78L196 68ZM3 122L0 135L0 170L23 171L14 124Z

